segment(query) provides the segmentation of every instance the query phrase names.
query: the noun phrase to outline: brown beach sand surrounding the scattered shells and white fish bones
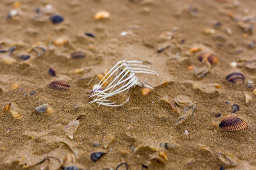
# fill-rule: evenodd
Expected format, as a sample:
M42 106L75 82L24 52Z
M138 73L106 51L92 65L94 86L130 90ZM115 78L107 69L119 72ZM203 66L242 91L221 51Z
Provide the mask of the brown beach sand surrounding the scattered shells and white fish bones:
M18 15L6 19L14 2L3 0L0 5L0 50L16 45L9 57L9 52L0 53L0 105L3 109L11 102L10 110L18 112L20 119L10 111L0 115L0 169L53 170L60 167L58 160L65 154L73 154L76 162L66 161L63 166L87 170L116 169L123 162L129 170L256 169L255 95L253 88L247 88L247 81L255 83L256 77L255 69L246 65L256 59L253 0L21 0ZM47 4L54 10L35 19L36 8L43 10ZM101 10L110 17L95 20ZM54 14L63 16L64 22L53 24L49 17ZM205 29L214 31L207 34ZM52 44L58 38L67 42ZM40 57L33 50L27 52L36 42L46 50ZM191 52L193 47L201 50ZM76 51L86 57L70 57ZM188 66L207 68L197 59L201 52L214 53L219 63L198 77ZM30 55L30 59L21 60L19 55ZM120 107L89 104L88 95L100 81L96 75L121 60L151 63L145 62L159 75L137 76L147 78L154 90L143 96L143 88L136 86L127 94L118 94L112 99L125 101L130 96ZM55 77L48 74L50 67ZM227 82L232 72L242 73L244 82ZM49 88L56 80L67 81L69 90ZM36 93L30 95L32 91ZM247 103L245 94L251 97ZM40 104L47 104L54 113L38 113L35 108ZM240 106L234 115L247 122L247 130L219 128L223 117L231 115L233 104ZM193 105L193 114L192 108L184 112ZM216 112L221 116L216 117ZM181 117L186 118L175 125ZM80 123L71 140L65 126L76 119ZM104 147L106 136L114 139ZM161 143L175 148L163 148ZM93 152L106 154L93 162ZM235 164L221 161L218 155L224 156L219 153ZM32 166L45 157L46 161Z

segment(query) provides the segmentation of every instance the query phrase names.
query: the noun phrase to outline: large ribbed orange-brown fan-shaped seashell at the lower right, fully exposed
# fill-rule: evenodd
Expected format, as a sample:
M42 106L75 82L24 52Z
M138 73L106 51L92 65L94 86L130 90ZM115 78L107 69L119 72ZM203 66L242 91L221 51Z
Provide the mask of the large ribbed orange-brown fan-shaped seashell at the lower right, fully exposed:
M248 129L247 123L235 115L225 116L220 122L219 127L229 132Z

